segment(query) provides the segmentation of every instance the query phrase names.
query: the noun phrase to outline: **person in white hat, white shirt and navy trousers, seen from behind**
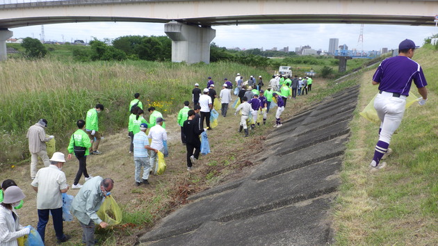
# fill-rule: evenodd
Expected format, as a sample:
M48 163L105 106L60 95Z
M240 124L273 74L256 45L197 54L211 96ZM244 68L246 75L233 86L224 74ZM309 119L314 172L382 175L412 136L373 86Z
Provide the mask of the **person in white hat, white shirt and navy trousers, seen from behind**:
M38 227L37 231L44 243L44 236L49 213L54 222L54 229L58 243L64 243L70 239L63 231L63 197L67 192L67 179L61 169L65 163L64 154L55 152L51 156L49 167L38 170L31 186L37 192Z

